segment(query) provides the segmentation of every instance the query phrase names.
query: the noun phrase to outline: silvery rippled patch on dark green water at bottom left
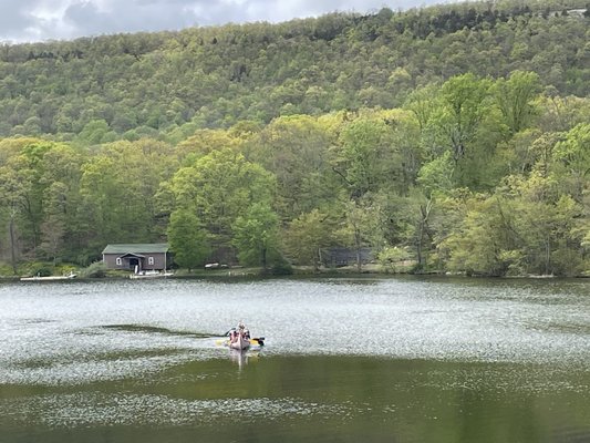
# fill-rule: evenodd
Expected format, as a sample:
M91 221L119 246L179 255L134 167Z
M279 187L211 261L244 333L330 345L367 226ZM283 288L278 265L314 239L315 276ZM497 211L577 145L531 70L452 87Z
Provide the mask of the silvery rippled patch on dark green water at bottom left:
M113 425L222 425L229 421L282 420L288 416L342 415L348 408L299 399L183 400L166 395L80 394L39 395L0 401L0 416L38 422L50 427Z

